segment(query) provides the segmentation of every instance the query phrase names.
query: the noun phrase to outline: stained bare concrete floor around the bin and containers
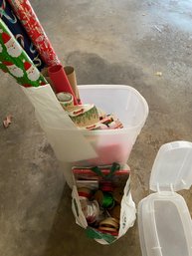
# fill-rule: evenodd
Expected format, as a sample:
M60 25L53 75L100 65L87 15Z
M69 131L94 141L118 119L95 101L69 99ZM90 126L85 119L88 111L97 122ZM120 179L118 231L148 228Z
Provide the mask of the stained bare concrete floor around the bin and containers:
M79 84L124 84L150 113L128 160L136 202L148 194L160 145L192 141L191 0L33 0L53 46L73 65ZM162 72L162 77L155 76ZM0 255L140 256L137 224L110 246L89 240L75 224L71 191L19 86L0 83ZM182 192L192 213L192 190Z

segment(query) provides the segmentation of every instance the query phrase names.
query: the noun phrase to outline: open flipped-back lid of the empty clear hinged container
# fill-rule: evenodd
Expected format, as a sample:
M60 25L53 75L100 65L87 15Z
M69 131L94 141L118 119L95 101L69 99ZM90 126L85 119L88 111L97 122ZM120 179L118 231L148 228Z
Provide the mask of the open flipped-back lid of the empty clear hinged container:
M192 184L192 142L173 141L163 144L154 160L150 189L178 191Z

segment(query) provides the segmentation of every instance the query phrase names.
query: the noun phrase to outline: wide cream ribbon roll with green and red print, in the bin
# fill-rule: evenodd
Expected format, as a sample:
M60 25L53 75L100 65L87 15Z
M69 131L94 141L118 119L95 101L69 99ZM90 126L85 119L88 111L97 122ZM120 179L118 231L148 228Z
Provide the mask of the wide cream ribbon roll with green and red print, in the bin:
M80 128L91 126L98 121L98 113L95 105L79 105L68 108L72 121Z

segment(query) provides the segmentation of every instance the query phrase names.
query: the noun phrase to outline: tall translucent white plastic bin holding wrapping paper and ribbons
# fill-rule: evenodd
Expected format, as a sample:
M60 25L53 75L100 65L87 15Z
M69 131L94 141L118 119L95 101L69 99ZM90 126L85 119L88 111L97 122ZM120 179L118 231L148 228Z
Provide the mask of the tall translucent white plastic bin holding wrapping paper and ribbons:
M33 106L40 126L46 132L65 178L72 187L72 165L126 163L137 135L148 116L144 98L129 86L79 86L83 103L95 104L114 114L124 128L82 130L77 128L60 106L50 85L23 89Z

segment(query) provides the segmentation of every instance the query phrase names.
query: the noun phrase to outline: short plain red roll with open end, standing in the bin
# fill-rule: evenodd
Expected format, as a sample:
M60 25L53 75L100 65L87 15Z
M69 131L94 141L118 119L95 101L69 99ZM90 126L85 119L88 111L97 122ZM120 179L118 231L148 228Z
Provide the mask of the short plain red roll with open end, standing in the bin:
M53 82L56 93L70 93L74 97L74 105L78 105L77 98L68 81L65 70L62 65L55 65L48 69L50 79Z

